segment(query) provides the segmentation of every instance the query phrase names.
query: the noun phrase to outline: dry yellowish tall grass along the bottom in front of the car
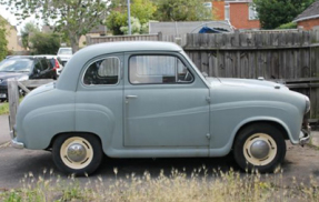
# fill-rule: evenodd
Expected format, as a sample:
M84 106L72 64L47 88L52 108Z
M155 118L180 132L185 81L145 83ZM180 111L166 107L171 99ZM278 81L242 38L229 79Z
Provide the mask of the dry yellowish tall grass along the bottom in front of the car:
M113 171L117 175L118 170ZM144 172L137 178L132 173L122 179L116 178L111 184L106 184L102 176L98 176L93 182L88 178L84 184L80 184L73 176L66 182L54 176L52 171L43 171L40 176L26 174L20 189L0 191L0 201L319 201L319 186L312 176L308 185L291 179L289 186L285 186L282 172L261 175L213 170L210 176L207 173L203 165L190 175L172 169L169 175L161 172L152 176Z

